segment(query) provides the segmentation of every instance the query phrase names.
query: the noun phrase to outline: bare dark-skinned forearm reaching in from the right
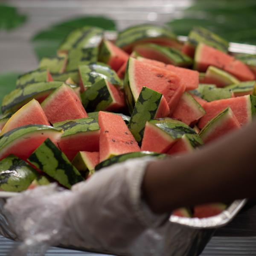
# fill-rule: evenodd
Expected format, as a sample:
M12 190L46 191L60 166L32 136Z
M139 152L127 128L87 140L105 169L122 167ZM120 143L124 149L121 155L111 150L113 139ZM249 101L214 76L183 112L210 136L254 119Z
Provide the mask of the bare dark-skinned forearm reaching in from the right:
M143 195L155 213L256 195L256 121L193 154L150 163Z

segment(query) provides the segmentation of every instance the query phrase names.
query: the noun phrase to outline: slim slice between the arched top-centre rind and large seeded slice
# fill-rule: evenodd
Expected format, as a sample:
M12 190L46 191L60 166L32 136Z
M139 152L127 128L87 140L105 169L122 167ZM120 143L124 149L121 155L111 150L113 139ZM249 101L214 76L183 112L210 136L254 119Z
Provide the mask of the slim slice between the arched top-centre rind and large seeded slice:
M140 44L134 50L144 58L180 67L192 66L192 59L177 49L157 44Z

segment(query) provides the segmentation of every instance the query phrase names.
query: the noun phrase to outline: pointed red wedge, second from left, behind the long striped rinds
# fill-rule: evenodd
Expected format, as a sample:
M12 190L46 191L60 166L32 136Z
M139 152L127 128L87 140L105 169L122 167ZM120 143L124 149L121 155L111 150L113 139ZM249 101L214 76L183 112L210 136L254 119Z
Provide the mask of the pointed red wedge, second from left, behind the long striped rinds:
M87 117L79 97L67 84L52 92L41 106L51 123Z

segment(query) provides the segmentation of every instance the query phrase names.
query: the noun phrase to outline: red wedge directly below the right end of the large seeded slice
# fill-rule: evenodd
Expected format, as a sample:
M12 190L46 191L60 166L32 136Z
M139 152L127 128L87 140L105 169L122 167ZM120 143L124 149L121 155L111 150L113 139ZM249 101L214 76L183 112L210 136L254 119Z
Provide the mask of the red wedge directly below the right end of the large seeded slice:
M185 92L170 117L191 125L205 113L204 108L189 93Z

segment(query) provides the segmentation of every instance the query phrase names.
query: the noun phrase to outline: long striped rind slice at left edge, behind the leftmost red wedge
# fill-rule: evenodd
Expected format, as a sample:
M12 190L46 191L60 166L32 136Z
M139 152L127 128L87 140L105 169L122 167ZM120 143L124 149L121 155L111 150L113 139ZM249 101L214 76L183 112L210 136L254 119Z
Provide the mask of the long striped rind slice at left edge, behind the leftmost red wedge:
M2 112L15 112L32 99L36 99L41 103L53 90L60 87L61 84L63 84L63 82L41 82L28 84L24 88L17 88L4 96Z

